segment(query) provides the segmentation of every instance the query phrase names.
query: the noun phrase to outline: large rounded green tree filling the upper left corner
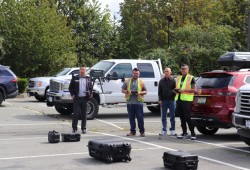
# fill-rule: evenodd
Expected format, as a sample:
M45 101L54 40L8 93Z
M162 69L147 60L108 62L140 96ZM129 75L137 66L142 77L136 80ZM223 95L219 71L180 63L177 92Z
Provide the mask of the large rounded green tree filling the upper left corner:
M3 0L0 35L6 54L2 63L19 76L52 74L76 64L66 20L44 0Z

